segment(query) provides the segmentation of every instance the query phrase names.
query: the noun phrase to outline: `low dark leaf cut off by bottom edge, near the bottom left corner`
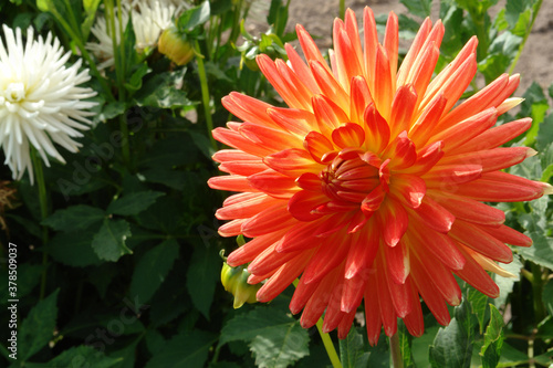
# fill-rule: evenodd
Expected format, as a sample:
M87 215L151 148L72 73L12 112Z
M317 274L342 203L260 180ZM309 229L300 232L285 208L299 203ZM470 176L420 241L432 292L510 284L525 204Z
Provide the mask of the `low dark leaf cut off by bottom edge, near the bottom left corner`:
M80 345L63 350L54 359L50 360L48 368L67 368L67 367L94 367L109 368L121 361L119 359L106 357L103 353L94 349L92 346Z

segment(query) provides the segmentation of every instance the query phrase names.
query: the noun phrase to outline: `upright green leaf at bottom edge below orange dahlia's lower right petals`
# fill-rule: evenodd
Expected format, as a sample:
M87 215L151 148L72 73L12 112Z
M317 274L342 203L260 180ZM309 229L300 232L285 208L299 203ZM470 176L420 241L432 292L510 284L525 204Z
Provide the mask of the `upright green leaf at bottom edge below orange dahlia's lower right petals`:
M455 308L455 318L440 328L430 346L432 367L470 367L476 320L470 304L463 301Z

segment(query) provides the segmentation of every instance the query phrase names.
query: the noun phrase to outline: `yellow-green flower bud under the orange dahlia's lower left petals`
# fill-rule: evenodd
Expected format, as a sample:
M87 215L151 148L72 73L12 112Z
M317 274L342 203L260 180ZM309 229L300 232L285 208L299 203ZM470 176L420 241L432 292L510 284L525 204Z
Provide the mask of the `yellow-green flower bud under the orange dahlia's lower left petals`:
M234 295L233 307L240 308L244 303L255 303L255 294L261 284L248 284L250 273L243 266L231 267L223 262L221 270L221 283L225 290Z

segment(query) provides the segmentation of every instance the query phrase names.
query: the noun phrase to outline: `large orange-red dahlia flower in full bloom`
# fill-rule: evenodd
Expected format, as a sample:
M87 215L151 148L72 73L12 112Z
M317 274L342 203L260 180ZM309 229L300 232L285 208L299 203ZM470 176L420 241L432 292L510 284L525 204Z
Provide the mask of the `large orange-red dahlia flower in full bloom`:
M229 265L251 262L248 282L265 281L260 302L301 277L290 309L303 309L304 327L325 312L323 330L337 328L341 338L364 299L371 344L383 326L395 334L397 317L421 335L420 298L447 325L447 304L461 301L453 275L497 297L487 271L505 275L495 263L512 261L505 243L531 240L482 202L552 191L501 171L535 154L498 148L531 126L523 118L494 127L521 101L508 98L519 75L503 74L456 106L477 72L476 38L432 78L440 21L422 23L399 69L394 13L383 44L369 8L362 40L352 10L335 20L331 65L301 25L296 31L306 63L291 45L288 63L258 57L289 107L231 93L222 103L243 123L213 130L234 149L213 156L230 175L209 186L238 192L216 213L231 220L219 233L252 239Z

